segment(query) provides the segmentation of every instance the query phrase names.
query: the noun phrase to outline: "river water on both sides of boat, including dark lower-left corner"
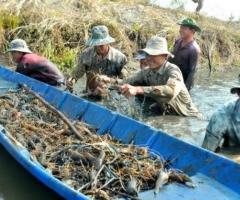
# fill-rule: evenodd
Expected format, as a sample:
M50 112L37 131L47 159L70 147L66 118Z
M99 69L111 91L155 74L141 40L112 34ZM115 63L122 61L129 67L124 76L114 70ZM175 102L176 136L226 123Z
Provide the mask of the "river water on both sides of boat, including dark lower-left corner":
M6 64L6 62L4 63ZM195 105L204 114L205 120L177 116L153 117L144 115L141 109L139 110L141 106L137 105L134 99L125 99L125 97L119 94L115 95L115 98L108 99L111 102L111 106L108 105L108 101L98 103L133 116L181 140L201 145L205 128L212 113L228 101L236 99L236 96L231 95L229 91L236 82L238 74L240 74L240 68L226 68L222 71L214 72L211 76L209 76L206 69L198 71L196 85L191 91L191 96ZM84 80L78 82L80 86L76 86L76 92L84 88L83 82ZM82 94L80 95L82 96ZM115 105L118 106L112 106L113 103L116 103ZM238 160L239 152L226 151L224 154ZM0 200L61 199L17 164L2 146L0 146L0 154Z

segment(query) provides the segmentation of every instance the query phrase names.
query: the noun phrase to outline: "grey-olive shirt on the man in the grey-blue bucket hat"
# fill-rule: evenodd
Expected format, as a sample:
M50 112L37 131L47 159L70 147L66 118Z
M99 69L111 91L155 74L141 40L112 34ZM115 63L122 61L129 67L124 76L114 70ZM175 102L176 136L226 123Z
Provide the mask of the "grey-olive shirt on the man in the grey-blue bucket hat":
M72 73L76 79L85 73L94 72L110 77L126 76L126 56L117 49L110 47L106 57L102 58L95 47L85 49L77 58L77 66Z

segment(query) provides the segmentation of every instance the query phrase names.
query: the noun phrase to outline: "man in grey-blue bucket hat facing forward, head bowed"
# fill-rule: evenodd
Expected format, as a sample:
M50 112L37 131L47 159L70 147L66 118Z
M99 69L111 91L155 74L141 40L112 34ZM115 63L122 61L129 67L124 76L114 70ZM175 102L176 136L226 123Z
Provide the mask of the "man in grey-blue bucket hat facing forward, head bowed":
M77 66L72 73L73 78L81 78L85 73L87 80L91 79L92 74L105 75L102 76L105 81L109 81L109 77L125 77L127 58L110 46L113 42L115 39L109 35L106 26L93 27L91 38L86 42L89 47L78 55Z

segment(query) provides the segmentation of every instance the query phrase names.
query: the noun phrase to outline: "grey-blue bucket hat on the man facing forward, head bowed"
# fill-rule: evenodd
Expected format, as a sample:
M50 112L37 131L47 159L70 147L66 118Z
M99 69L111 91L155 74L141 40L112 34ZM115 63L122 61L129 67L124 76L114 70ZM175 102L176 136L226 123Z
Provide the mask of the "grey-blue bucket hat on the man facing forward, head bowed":
M115 39L109 35L106 26L94 26L92 28L91 38L86 42L87 46L100 46L115 42Z

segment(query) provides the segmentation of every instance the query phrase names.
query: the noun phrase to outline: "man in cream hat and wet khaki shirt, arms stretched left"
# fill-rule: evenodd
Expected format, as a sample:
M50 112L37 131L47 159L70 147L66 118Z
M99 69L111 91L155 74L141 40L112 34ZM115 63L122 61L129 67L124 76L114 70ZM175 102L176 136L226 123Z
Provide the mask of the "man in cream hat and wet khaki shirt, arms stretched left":
M180 69L167 61L172 54L168 51L166 39L152 37L141 52L146 53L149 68L127 79L121 92L125 96L150 97L163 114L201 116L192 103Z

